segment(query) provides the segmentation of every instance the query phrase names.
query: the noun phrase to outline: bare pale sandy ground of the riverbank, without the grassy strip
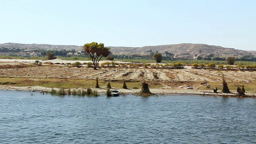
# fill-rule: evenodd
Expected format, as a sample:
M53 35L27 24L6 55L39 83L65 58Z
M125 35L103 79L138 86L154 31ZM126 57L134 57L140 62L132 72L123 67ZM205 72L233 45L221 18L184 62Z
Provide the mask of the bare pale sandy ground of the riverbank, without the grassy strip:
M13 59L0 59L0 66L11 64L31 64L35 60L13 60ZM76 60L44 60L42 62L52 63L74 63ZM91 61L79 61L80 63ZM108 62L108 61L100 61ZM111 62L111 61L110 61ZM116 61L116 63L124 63ZM241 84L253 85L256 84L253 79L256 77L255 71L230 71L230 70L209 70L209 69L192 69L187 66L184 69L170 70L170 69L156 69L156 68L124 68L124 67L111 67L100 68L99 70L93 70L83 66L81 68L71 66L43 66L43 67L28 67L28 68L1 68L0 76L5 77L28 77L33 78L78 78L78 79L95 79L98 77L101 80L136 80L141 82L150 82L152 84L160 84L161 88L150 88L150 91L154 94L198 94L198 95L212 95L212 96L237 96L237 92L232 90L230 94L213 92L214 87L221 88L221 76L223 73L228 82L234 84L234 86L240 86ZM31 78L29 78L31 77ZM0 79L1 80L1 79ZM207 80L210 84L215 84L213 88L206 90L203 84L200 82ZM178 88L183 86L183 88ZM186 89L187 86L192 86L194 89ZM139 89L119 89L125 94L135 94L140 91ZM22 91L51 91L52 88L43 86L10 86L0 85L0 90L22 90ZM56 88L58 90L58 88ZM105 93L106 88L94 89L100 93ZM247 96L256 96L255 92L246 93Z

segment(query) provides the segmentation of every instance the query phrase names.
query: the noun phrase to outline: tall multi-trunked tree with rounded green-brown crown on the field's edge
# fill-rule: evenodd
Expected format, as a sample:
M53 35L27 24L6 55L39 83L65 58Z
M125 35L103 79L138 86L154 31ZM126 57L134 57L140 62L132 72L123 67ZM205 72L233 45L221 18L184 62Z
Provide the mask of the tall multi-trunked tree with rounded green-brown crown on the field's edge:
M94 70L97 70L97 66L102 57L107 57L110 54L110 48L104 47L104 44L97 42L91 42L84 44L84 51L92 59Z

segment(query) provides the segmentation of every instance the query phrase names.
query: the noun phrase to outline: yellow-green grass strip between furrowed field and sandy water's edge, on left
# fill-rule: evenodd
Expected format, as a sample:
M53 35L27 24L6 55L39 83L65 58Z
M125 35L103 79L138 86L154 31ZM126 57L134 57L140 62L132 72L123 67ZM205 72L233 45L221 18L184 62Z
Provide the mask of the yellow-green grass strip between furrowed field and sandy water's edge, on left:
M106 88L110 82L112 88L122 88L122 80L104 81L99 80L100 88ZM13 77L0 78L0 85L8 86L44 86L47 88L95 88L96 80L71 79L71 78L31 78L31 77ZM142 83L138 81L127 81L128 88L141 88ZM161 88L161 84L151 84L150 88Z

